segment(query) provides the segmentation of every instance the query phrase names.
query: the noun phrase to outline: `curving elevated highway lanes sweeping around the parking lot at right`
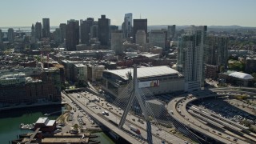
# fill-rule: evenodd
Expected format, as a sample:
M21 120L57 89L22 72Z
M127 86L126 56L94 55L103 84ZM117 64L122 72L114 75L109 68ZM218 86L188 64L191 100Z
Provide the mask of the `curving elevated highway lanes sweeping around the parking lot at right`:
M176 111L176 112L173 112L174 118L176 118L179 122L182 122L184 125L190 126L192 129L194 129L193 125L202 128L201 130L198 130L198 132L200 132L200 133L202 133L203 129L210 130L206 126L206 124L208 122L211 123L212 125L214 125L214 123L218 122L218 124L221 124L221 125L214 125L214 126L219 126L221 129L223 126L226 126L226 128L228 128L229 130L232 130L232 129L236 130L237 134L239 134L239 135L237 135L237 134L231 133L228 130L225 130L224 133L217 131L217 130L213 130L214 133L218 133L218 135L215 134L215 135L217 135L217 137L214 136L214 139L219 137L218 140L221 142L222 142L223 138L231 141L231 137L229 136L229 134L238 138L238 141L237 141L238 143L241 143L241 142L246 143L246 142L244 142L244 140L246 140L245 138L249 138L250 140L256 142L255 134L247 131L248 127L246 127L246 126L242 126L236 122L230 121L229 119L222 118L218 114L211 114L210 112L208 112L206 110L205 110L205 113L203 113L203 114L202 114L202 112L200 112L201 115L199 115L199 116L197 114L193 114L192 111L189 111L189 112L186 111L187 104L197 100L198 98L210 98L210 97L218 97L218 96L223 96L223 95L241 95L241 94L248 94L250 96L250 95L256 94L256 89L255 88L247 88L247 87L226 87L226 88L216 88L216 89L210 89L210 90L211 91L208 90L208 93L205 93L206 91L203 91L203 90L198 90L198 91L193 92L193 98L190 98L189 101L188 101L189 98L187 98L187 94L184 95L184 97L175 98L168 104L167 109ZM250 90L250 91L243 91L243 90ZM214 94L214 92L217 94ZM197 106L194 106L194 108L199 109ZM193 108L190 107L190 109L192 110ZM200 108L200 110L202 110L202 108ZM198 111L198 110L194 110L194 111ZM181 113L181 114L179 114L179 113ZM206 113L210 113L210 114L207 115ZM203 119L205 119L205 122L202 122L201 120L194 121L194 118L190 114L194 115L197 118L204 117ZM208 121L206 121L206 117L210 118L210 119L208 119ZM201 124L199 124L199 123L201 123ZM210 130L210 133L212 133L213 131ZM240 134L238 131L242 131L242 133ZM207 135L210 136L211 134L208 134L208 133L207 133ZM242 137L240 137L240 136L242 136ZM213 137L211 137L211 138L213 138ZM225 142L225 141L223 141L223 142ZM234 141L232 141L232 142L234 142Z

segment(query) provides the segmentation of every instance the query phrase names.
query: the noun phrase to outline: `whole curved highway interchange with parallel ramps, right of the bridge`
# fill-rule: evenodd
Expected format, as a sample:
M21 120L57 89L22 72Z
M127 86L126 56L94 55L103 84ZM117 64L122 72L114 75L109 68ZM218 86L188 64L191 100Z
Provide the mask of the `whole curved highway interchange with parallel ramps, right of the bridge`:
M247 89L247 88L244 88ZM253 89L250 89L253 90ZM218 92L222 93L218 93ZM192 94L184 94L183 97L178 97L172 99L167 109L172 112L173 117L182 122L183 125L189 127L198 133L204 134L207 137L215 139L217 142L223 143L250 143L256 142L255 134L247 133L248 131L245 126L238 126L230 120L224 118L219 118L216 114L209 114L208 111L202 110L196 106L189 104L195 100L201 98L216 98L218 96L225 96L227 94L254 94L254 92L243 91L240 88L230 88L230 89L213 89L213 90L201 90L194 92ZM193 116L192 116L193 115ZM197 118L195 118L197 117ZM199 118L199 119L198 119ZM204 119L205 118L205 119ZM226 122L225 122L226 121ZM218 129L214 129L213 126L217 126ZM226 128L226 129L224 129ZM236 131L234 133L234 131ZM250 142L248 142L250 139Z

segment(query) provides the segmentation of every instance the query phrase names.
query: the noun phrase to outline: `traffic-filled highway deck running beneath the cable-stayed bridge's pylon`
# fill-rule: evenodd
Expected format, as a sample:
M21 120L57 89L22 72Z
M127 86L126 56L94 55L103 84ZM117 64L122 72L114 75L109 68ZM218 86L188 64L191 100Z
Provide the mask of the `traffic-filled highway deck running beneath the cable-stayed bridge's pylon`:
M92 114L94 118L98 119L100 122L104 124L110 123L112 125L110 126L111 130L113 130L116 134L120 135L122 138L126 138L126 136L129 135L130 137L134 138L135 141L137 140L137 142L135 143L138 143L138 142L142 143L146 141L146 122L142 124L141 122L138 122L137 117L135 117L132 114L128 114L126 118L126 123L123 126L123 132L119 133L119 131L116 130L118 129L118 127L114 126L115 124L113 125L113 123L116 123L116 124L119 123L123 110L120 110L118 107L112 106L109 103L108 103L108 106L106 106L106 101L102 98L100 98L101 99L100 102L89 102L89 100L93 100L94 98L96 98L96 96L94 96L94 94L89 94L87 92L80 93L79 94L80 98L78 98L77 94L69 94L69 95L72 101L76 102L78 106L82 108L82 110L86 111L86 113ZM110 107L112 108L112 110L110 110ZM105 111L105 110L109 111L108 116L102 115L102 111ZM130 125L137 127L142 133L141 136L138 136L132 130L130 130L130 127L129 127ZM183 140L182 138L178 138L177 136L174 136L173 134L170 134L165 130L159 130L157 126L151 125L151 129L152 129L152 138L154 143L160 143L162 142L162 140L164 140L166 143L175 143L175 144L186 143L186 140ZM131 142L131 143L134 143L134 142Z

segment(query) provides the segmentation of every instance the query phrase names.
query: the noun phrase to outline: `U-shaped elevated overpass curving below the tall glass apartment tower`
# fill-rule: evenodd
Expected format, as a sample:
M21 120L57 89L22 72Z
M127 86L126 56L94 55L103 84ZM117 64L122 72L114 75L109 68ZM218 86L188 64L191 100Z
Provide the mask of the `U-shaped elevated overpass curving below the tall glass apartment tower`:
M233 92L233 93L237 92L239 94L255 94L255 92L256 92L255 88L247 88L247 87L229 87L229 88L217 88L217 89L210 89L210 90L213 92L225 92L225 91L226 92L229 91L229 92ZM241 91L241 90L250 90L250 91ZM193 102L199 98L213 98L213 97L223 96L226 94L217 95L214 93L210 93L210 94L199 94L199 93L202 93L202 91L194 92L194 95L196 95L196 96L193 95L193 97L190 97L190 98L186 97L186 96L174 98L168 104L167 109L173 111L173 117L176 118L179 122L182 122L183 125L188 126L192 130L198 131L198 133L200 133L200 134L206 135L207 137L210 137L210 138L214 138L217 142L224 142L224 143L234 142L234 141L230 140L229 136L227 135L229 133L226 134L226 133L218 132L218 134L217 134L216 130L213 130L211 127L206 126L207 123L214 124L214 123L218 122L218 119L211 118L211 119L208 119L208 121L204 121L204 122L206 122L206 123L204 123L202 121L198 121L198 119L196 119L196 118L193 118L190 115L191 114L190 110L186 111L187 104L190 102ZM233 94L228 94L228 95L233 95ZM234 95L236 95L236 94L234 94ZM194 115L197 118L202 118L202 115L204 115L204 114L201 114L201 115L192 114L192 115ZM223 124L224 124L224 126L228 126L231 129L234 129L234 130L238 129L238 128L236 128L237 125L230 126L230 124L234 124L234 122L229 122L229 123L226 123L226 122L227 121L225 119L224 122L222 122L222 123L218 122L218 125L215 125L215 126L219 126L220 128L222 128ZM243 130L246 130L245 126L238 126L238 127L242 128ZM241 130L241 129L238 129L238 130ZM246 138L250 138L251 140L253 140L255 142L255 138L251 137L251 136L254 136L253 134L248 135L248 133L247 133L247 134L243 134L242 136L246 137ZM240 138L240 139L238 139L238 141L234 142L234 143L246 143L244 138L241 138L241 137L238 137L238 138Z

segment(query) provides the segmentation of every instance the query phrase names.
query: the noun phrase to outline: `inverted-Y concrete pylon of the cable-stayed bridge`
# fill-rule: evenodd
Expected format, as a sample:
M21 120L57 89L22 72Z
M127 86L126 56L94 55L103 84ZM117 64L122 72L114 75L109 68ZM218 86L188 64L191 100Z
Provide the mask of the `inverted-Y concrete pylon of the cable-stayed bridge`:
M142 98L141 98L140 94L138 94L137 65L135 65L135 64L134 64L134 77L133 77L132 91L130 93L130 98L129 98L128 104L126 106L126 109L124 110L124 112L122 114L122 118L119 122L119 129L122 129L122 126L124 125L124 123L126 121L127 114L130 110L130 107L132 106L132 103L134 102L134 98L136 98L138 100L138 104L141 107L144 117L146 119L147 142L149 144L153 144L149 114L147 114L146 106L142 102Z

